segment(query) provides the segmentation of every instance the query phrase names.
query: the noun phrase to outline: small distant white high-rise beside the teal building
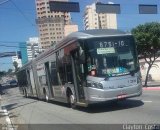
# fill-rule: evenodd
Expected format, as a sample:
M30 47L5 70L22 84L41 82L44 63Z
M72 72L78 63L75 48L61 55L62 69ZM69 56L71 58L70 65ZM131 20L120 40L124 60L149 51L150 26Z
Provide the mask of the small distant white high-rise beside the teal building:
M38 37L31 37L27 41L27 56L28 61L32 60L42 51Z

